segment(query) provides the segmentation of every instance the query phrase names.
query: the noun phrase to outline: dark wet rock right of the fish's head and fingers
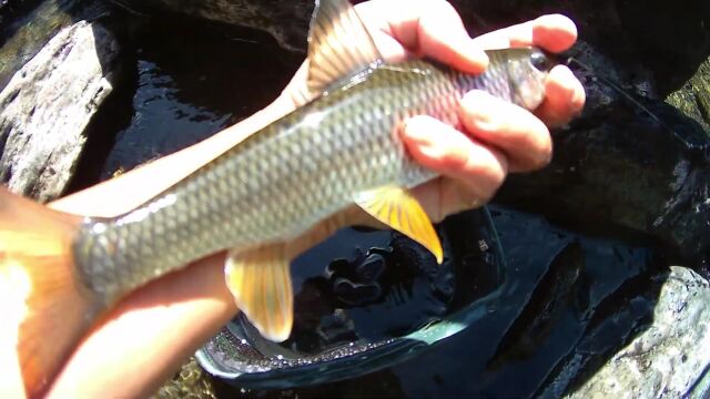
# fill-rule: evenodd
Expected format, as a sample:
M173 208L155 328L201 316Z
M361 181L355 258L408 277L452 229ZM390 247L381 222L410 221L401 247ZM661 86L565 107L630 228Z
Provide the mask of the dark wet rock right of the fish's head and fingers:
M662 239L683 263L704 267L710 136L663 103L648 70L622 68L584 42L575 53L595 71L576 71L587 91L582 115L554 132L548 167L509 176L497 200L587 232L618 231L613 226L643 232ZM626 94L596 71L628 82L615 84Z

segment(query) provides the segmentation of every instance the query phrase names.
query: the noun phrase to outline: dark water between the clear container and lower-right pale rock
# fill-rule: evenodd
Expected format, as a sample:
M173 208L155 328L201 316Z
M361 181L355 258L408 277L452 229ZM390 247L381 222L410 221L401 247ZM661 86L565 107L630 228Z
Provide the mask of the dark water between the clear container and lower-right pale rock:
M505 278L486 299L488 311L467 329L408 361L357 378L280 391L222 383L221 395L555 397L645 328L655 298L647 282L662 268L650 244L586 237L540 216L491 209L506 254ZM465 219L450 218L448 228L465 237L476 229ZM395 311L389 317L412 319ZM578 367L570 367L572 359ZM564 383L554 381L564 371L574 372Z

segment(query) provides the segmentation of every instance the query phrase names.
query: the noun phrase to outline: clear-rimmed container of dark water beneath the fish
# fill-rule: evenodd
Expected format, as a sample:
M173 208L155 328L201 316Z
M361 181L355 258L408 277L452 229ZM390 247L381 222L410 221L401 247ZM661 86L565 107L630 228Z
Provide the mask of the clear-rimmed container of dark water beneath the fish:
M465 233L465 234L462 234ZM295 323L270 342L242 316L197 357L240 388L324 383L416 357L485 315L505 279L499 243L484 211L437 228L444 262L398 233L346 228L296 258ZM488 300L489 301L489 300ZM255 372L257 371L257 372Z

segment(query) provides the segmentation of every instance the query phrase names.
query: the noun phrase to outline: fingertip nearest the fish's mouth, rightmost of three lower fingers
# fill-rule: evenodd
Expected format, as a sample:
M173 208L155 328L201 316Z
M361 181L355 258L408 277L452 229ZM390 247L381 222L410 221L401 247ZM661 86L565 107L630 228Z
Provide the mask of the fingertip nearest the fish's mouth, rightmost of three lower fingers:
M545 82L545 101L535 113L548 126L568 123L585 106L585 88L567 66L552 68Z

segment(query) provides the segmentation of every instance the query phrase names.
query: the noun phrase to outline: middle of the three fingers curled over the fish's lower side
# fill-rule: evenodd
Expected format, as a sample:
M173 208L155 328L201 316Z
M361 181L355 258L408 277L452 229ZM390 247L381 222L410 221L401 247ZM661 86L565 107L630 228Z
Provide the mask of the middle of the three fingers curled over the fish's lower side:
M547 126L518 105L475 90L462 99L459 119L476 140L503 150L513 172L542 167L551 158Z

